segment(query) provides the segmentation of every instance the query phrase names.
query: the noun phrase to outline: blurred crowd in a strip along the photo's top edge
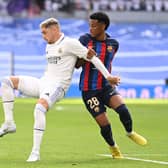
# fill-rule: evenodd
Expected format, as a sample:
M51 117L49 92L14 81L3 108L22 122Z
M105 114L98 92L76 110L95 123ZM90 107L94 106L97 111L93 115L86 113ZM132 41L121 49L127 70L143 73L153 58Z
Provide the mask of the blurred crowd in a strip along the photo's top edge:
M0 16L75 10L167 12L168 0L0 0Z

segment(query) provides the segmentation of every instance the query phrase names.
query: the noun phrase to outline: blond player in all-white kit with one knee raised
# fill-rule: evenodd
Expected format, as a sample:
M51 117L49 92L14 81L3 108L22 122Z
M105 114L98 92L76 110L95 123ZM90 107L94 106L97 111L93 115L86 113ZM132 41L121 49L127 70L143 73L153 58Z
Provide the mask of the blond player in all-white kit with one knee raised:
M2 80L2 101L5 121L0 128L0 137L16 131L13 117L14 89L30 97L37 97L34 109L33 147L28 162L40 160L40 144L46 127L46 112L62 99L69 88L77 58L92 62L111 83L120 83L118 76L112 76L92 49L85 48L77 39L66 37L55 18L44 20L40 29L46 46L47 68L42 78L10 76Z

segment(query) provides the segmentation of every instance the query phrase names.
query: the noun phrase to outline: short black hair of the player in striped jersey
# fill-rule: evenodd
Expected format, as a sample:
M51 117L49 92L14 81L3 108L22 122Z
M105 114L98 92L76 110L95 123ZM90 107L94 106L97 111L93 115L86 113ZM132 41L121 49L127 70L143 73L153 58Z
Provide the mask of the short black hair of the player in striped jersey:
M105 30L107 30L110 25L110 19L108 15L103 12L95 12L91 14L90 19L98 20L98 22L104 23L106 25Z

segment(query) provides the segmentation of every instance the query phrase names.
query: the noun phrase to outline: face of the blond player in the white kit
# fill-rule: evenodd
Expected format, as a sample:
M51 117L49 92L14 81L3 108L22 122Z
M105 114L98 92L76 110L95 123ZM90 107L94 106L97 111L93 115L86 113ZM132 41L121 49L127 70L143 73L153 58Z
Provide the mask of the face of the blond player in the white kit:
M47 41L47 43L52 44L55 43L55 39L56 39L56 35L57 35L57 31L56 31L56 27L42 27L41 28L41 33L42 33L42 37L45 41Z

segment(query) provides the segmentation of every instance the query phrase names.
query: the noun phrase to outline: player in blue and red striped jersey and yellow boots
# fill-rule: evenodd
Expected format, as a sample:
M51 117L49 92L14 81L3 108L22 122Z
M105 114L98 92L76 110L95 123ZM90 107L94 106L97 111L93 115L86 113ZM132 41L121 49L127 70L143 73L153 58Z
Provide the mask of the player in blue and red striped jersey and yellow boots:
M109 25L110 19L105 13L96 12L91 14L89 18L90 33L82 35L79 41L87 48L94 49L97 57L111 72L111 64L119 43L106 33ZM82 72L79 87L82 92L82 99L87 110L99 125L101 135L109 145L112 157L115 159L123 158L123 155L113 138L111 124L106 115L106 107L113 109L119 115L126 134L131 140L139 145L146 145L147 140L133 131L131 114L123 98L117 92L116 86L111 86L91 62L79 59L76 67L79 68L81 65Z

